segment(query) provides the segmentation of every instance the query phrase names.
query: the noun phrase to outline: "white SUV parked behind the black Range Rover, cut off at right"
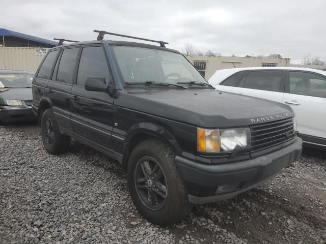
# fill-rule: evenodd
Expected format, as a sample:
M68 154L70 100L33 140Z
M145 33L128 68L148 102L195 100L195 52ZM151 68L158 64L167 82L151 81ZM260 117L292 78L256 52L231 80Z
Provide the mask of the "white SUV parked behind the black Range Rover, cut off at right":
M304 145L326 149L326 71L292 67L225 69L216 71L209 83L224 92L290 105Z

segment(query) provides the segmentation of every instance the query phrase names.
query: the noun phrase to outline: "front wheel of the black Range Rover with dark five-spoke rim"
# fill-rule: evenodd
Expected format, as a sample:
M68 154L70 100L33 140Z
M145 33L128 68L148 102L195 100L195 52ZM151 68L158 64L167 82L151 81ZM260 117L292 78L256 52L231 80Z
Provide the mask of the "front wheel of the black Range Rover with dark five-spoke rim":
M134 205L153 224L174 224L192 210L175 154L162 141L149 139L135 146L128 162L127 180Z

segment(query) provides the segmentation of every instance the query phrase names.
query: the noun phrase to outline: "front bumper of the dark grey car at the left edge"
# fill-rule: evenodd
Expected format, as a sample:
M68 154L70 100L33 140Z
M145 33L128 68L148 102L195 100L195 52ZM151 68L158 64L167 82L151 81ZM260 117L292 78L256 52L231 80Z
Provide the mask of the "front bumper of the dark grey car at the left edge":
M13 121L26 121L35 120L36 116L32 111L32 107L11 107L0 106L0 121L3 123L9 123Z

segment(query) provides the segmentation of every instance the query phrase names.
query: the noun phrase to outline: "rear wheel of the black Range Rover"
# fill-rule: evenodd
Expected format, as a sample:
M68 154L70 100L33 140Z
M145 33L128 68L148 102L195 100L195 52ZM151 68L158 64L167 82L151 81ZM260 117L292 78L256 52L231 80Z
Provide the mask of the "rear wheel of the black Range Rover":
M45 150L49 154L61 154L68 150L70 137L62 135L52 109L44 111L41 118L41 135Z

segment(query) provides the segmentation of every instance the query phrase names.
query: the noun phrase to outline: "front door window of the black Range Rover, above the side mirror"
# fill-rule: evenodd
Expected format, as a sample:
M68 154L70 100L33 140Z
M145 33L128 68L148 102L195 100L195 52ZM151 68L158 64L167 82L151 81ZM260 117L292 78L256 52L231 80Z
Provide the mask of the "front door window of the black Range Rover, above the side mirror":
M86 79L92 76L104 77L106 84L112 84L102 47L84 47L80 56L77 84L85 85Z

